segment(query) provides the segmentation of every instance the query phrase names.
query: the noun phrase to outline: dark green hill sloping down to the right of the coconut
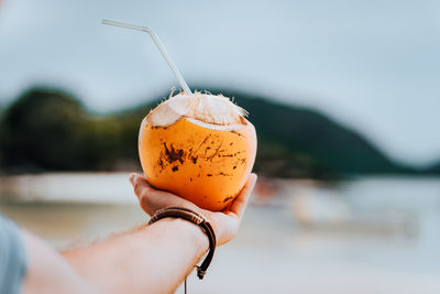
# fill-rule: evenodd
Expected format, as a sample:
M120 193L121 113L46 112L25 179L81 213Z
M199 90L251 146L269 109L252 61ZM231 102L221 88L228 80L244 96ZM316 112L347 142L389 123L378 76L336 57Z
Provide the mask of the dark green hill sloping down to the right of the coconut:
M353 130L321 113L263 97L224 92L249 110L258 134L256 168L278 176L410 173Z

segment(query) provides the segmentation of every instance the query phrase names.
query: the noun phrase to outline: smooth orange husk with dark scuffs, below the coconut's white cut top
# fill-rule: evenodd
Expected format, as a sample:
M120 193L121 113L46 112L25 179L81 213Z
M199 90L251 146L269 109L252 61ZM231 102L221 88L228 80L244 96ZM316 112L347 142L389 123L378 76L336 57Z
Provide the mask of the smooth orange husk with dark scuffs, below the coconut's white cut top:
M180 119L169 127L141 124L142 168L156 188L220 211L244 186L256 154L255 128L212 130Z

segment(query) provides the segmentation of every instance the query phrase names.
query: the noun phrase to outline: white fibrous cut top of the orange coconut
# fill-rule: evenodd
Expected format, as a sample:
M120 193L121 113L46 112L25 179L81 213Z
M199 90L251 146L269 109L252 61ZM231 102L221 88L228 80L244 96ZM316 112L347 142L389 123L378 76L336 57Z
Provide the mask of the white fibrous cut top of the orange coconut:
M211 129L241 129L248 124L246 111L231 102L228 97L211 94L180 92L163 101L146 117L146 121L155 127L168 127L179 119Z

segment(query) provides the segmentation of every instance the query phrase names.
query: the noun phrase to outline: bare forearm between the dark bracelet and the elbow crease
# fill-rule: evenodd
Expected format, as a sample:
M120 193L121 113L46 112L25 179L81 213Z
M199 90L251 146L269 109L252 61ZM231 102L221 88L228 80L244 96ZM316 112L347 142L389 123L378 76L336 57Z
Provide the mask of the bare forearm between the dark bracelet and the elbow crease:
M183 219L65 252L67 261L106 293L169 293L208 249L200 228Z

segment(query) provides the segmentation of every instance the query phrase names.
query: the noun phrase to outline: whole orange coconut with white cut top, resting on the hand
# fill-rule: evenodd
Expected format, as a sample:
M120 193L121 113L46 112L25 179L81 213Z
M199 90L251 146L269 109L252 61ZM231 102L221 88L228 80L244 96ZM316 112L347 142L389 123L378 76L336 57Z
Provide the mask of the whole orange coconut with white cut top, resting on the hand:
M255 128L245 117L221 95L170 95L140 129L139 154L151 185L205 209L228 207L255 161Z

